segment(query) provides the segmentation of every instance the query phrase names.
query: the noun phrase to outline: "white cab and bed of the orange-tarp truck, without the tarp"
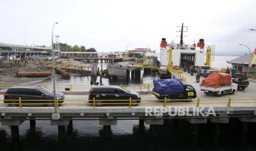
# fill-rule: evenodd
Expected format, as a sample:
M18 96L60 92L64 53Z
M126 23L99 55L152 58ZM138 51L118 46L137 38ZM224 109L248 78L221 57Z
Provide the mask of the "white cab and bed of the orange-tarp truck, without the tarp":
M221 85L220 88L206 87L200 85L200 90L204 91L205 94L216 94L222 96L224 94L234 94L237 91L236 79L232 78L231 84Z

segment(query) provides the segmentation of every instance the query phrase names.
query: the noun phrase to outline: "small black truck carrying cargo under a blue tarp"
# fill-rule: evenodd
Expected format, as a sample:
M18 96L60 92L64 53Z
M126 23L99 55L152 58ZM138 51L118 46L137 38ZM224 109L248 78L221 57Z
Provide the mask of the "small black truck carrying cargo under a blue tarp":
M188 99L197 97L197 92L192 85L183 84L181 79L162 79L154 80L154 88L152 94L158 99Z

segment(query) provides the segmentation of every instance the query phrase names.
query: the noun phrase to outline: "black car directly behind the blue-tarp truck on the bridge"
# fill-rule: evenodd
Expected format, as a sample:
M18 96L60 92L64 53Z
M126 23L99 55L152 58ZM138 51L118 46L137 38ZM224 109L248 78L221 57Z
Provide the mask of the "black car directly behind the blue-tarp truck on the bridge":
M102 106L102 103L129 103L129 98L132 98L132 106L136 106L141 100L137 92L112 85L92 86L88 98L89 103L93 103L93 99L95 98L96 106Z

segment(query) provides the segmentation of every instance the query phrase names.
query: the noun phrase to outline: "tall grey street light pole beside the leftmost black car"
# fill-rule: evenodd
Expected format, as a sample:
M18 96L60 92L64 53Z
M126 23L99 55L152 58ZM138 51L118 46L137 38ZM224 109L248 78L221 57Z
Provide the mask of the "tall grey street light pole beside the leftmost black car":
M54 51L53 51L53 31L55 25L58 22L55 22L52 26L52 80L53 80L53 98L54 98L54 112L57 113L57 102L56 102L56 88L55 88L55 58L54 58Z

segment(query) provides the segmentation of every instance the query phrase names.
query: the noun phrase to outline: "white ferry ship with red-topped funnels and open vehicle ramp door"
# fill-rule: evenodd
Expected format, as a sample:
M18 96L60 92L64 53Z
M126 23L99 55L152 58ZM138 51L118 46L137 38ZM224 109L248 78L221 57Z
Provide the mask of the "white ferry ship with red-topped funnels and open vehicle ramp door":
M199 39L197 45L186 45L183 42L183 23L181 26L180 43L167 44L166 38L162 38L160 44L160 65L161 69L171 66L210 66L211 49L205 50L204 39ZM208 55L206 57L206 54ZM205 62L206 57L206 62Z

